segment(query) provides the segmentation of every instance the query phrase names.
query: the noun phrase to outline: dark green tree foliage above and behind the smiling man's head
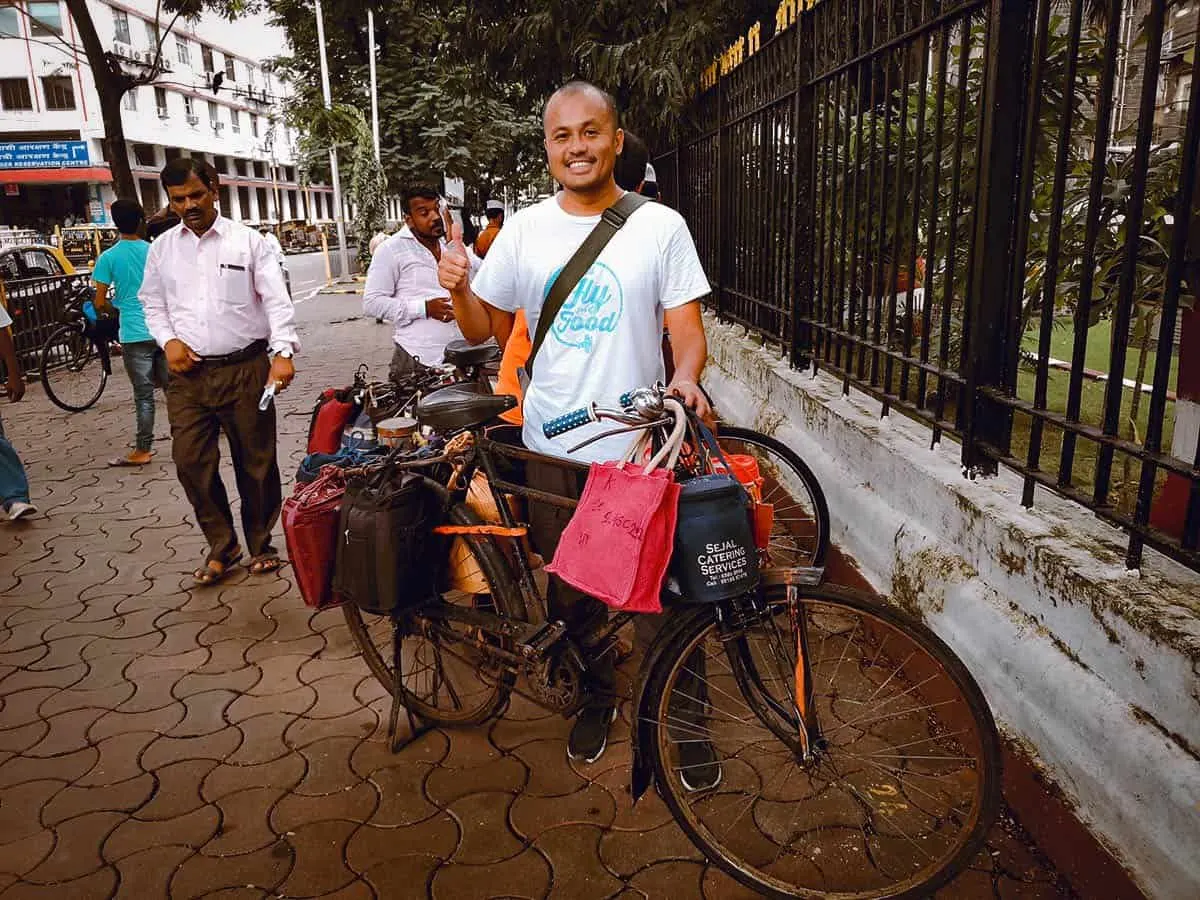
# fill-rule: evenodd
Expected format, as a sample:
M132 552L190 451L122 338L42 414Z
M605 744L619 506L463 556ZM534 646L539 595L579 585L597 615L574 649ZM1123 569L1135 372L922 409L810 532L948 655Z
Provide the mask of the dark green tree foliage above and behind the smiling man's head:
M294 52L276 67L299 86L288 110L301 132L330 132L323 112L317 29L304 0L269 0ZM324 7L334 100L370 114L368 0ZM541 109L571 78L610 90L626 122L652 142L671 134L700 72L764 0L431 0L376 8L384 170L391 190L462 178L479 199L502 187L545 187ZM319 166L319 160L313 160Z

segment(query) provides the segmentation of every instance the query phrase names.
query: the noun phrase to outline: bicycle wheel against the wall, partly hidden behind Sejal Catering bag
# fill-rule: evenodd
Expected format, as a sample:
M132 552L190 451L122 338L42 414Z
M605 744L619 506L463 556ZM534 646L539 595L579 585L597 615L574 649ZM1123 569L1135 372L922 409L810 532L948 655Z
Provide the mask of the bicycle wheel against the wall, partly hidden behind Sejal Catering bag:
M768 479L768 485L763 499L774 503L776 508L775 527L772 532L772 545L776 548L774 553L776 559L773 560L773 564L784 568L823 566L829 554L832 524L829 504L826 502L824 491L821 490L821 482L817 481L812 469L800 458L799 454L776 438L751 428L721 425L718 433L718 443L721 449L728 446L730 452L742 452L745 448L738 448L737 442L757 448L758 454L755 455L758 457L760 469L766 469L763 475ZM763 451L769 456L763 457L761 455ZM772 464L780 469L791 470L786 484L770 473ZM806 497L799 496L799 492ZM781 496L790 500L786 506L781 506L779 503ZM804 533L799 532L799 524L788 524L788 522L803 522ZM809 522L811 522L811 529L815 530L815 534L808 534Z

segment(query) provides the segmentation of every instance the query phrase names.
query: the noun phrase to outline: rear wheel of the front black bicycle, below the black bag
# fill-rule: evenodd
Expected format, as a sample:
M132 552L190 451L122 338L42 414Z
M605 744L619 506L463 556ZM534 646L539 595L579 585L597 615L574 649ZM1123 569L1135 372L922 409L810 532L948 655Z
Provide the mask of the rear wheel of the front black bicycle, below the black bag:
M480 520L464 505L450 509L450 524L472 526ZM449 590L443 602L524 618L524 604L516 590L503 554L488 538L464 536L450 550L451 559L478 566L478 589L486 593ZM391 694L394 680L392 619L362 612L353 604L342 606L350 636L372 674ZM442 623L426 632L414 614L401 618L400 702L428 722L476 725L493 716L508 700L514 677L499 672L475 648L480 638L461 624Z

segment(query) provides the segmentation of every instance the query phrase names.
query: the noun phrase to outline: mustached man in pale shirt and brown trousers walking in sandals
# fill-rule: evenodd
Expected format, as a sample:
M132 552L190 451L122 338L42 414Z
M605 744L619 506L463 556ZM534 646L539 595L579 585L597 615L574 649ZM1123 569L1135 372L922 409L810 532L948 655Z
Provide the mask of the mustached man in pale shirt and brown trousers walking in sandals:
M218 472L224 432L241 496L252 574L280 568L271 529L282 505L275 404L259 410L264 386L284 390L300 348L293 306L274 248L252 228L216 210L218 175L200 160L162 170L182 220L146 258L140 299L146 325L167 355L172 456L209 544L198 584L228 574L242 556Z

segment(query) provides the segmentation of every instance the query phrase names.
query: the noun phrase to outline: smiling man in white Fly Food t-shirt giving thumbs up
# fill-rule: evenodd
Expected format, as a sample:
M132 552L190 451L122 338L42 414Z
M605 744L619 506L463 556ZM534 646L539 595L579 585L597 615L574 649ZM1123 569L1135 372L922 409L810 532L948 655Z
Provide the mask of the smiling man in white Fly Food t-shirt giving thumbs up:
M461 229L452 229L452 240L442 253L439 281L450 292L463 336L473 343L494 335L503 346L517 310L524 310L529 332L535 334L558 272L601 214L624 194L613 179L624 134L610 95L592 84L572 82L550 98L542 124L550 172L562 192L512 216L473 282L468 283ZM708 278L683 217L661 204L636 210L568 296L538 353L524 397L526 444L539 452L584 462L619 458L631 436L607 438L571 455L569 446L601 426L560 438L546 438L541 426L592 401L616 406L624 391L662 380L664 320L671 331L676 365L670 388L707 415L708 402L698 382L708 358L700 299L708 293ZM536 481L535 486L556 493L577 490L576 485L548 484L556 472L560 470L530 463L530 486ZM560 532L564 524L560 511L530 505L530 536L541 553L553 553L554 529ZM551 616L564 619L576 636L586 634L602 614L602 606L596 610L599 601L566 589L557 580L551 588ZM580 713L570 742L571 756L586 762L604 752L613 710L608 673L594 674L598 700Z

